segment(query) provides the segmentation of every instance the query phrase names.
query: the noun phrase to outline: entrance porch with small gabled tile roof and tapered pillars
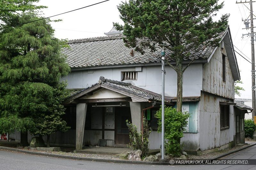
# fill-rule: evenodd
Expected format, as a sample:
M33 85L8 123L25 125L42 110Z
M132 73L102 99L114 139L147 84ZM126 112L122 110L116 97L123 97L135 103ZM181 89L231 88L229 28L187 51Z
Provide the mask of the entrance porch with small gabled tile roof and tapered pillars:
M174 105L173 102L177 101L177 99L173 97L165 96L164 98L166 105ZM142 126L143 110L150 108L150 106L152 107L156 103L161 104L161 99L162 96L160 94L139 88L131 83L106 79L103 76L100 77L98 83L91 85L88 88L76 89L75 91L73 90L71 95L63 102L63 104L76 104L76 150L81 150L83 146L84 126L88 104L93 104L93 107L103 107L100 106L100 103L111 102L111 105L105 106L121 107L123 106L122 102L128 102L130 106L129 112L131 111L129 114L131 115L132 123L136 125L138 131L140 131ZM183 101L198 100L200 100L200 97L183 98ZM118 105L113 105L113 102Z

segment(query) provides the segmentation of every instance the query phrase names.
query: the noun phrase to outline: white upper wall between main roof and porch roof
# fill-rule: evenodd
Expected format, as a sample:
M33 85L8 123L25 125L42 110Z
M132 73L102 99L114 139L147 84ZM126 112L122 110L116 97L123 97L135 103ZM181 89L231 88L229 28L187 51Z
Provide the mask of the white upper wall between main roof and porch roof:
M166 65L165 76L165 95L175 97L177 94L177 74L168 65ZM135 71L135 67L126 68L110 68L97 69L93 73L88 73L88 70L73 71L62 80L68 81L68 87L71 88L86 88L98 82L100 76L105 78L121 81L122 71ZM201 63L191 64L183 75L183 96L200 96L202 90L203 65ZM132 85L140 88L161 93L162 89L161 66L144 66L142 71L138 71L137 80L125 80Z

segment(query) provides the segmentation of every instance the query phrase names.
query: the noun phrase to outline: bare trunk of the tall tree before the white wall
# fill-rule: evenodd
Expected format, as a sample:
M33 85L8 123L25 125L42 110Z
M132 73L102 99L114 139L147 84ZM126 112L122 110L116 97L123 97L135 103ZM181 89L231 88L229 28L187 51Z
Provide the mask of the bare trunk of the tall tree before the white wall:
M183 67L181 62L177 62L177 111L182 112L182 85Z

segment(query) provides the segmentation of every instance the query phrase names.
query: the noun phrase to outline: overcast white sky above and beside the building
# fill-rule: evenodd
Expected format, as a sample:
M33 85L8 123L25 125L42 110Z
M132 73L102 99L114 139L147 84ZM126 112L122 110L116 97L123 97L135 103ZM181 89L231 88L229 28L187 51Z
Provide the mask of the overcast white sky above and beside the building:
M47 9L43 9L42 11L44 17L49 17L101 1L103 0L41 0L39 4L48 6ZM69 40L105 36L104 32L110 31L113 26L112 22L122 23L116 8L121 1L110 0L102 4L51 18L63 20L57 23L52 22L52 27L55 29L55 36L59 39L68 38ZM220 0L220 2L222 1ZM244 36L242 38L242 33L248 33L249 30L242 30L244 23L241 20L242 17L247 18L250 12L243 4L236 4L236 0L226 0L224 3L225 6L219 11L218 17L224 13L230 13L229 27L233 43L244 55L251 58L250 37ZM250 8L249 3L246 3L246 6ZM253 3L253 9L256 9L256 3ZM254 14L256 15L256 12ZM254 23L256 25L256 20ZM236 48L235 50L238 51ZM239 70L241 71L241 80L244 83L240 86L245 89L245 91L241 91L241 97L236 96L236 98L252 98L251 63L247 62L238 54L236 54L236 57Z

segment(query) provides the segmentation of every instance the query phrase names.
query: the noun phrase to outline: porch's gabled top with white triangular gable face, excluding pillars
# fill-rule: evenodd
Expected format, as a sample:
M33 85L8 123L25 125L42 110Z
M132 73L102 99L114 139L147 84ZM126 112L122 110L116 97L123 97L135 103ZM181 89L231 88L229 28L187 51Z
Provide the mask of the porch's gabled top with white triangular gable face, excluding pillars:
M171 103L171 100L174 99L173 97L166 96L164 98L164 102L166 104ZM71 94L71 96L69 96L63 104L116 101L162 102L162 96L160 94L134 86L131 83L110 80L101 76L98 83L85 89L76 89L75 92L73 91L73 94Z

